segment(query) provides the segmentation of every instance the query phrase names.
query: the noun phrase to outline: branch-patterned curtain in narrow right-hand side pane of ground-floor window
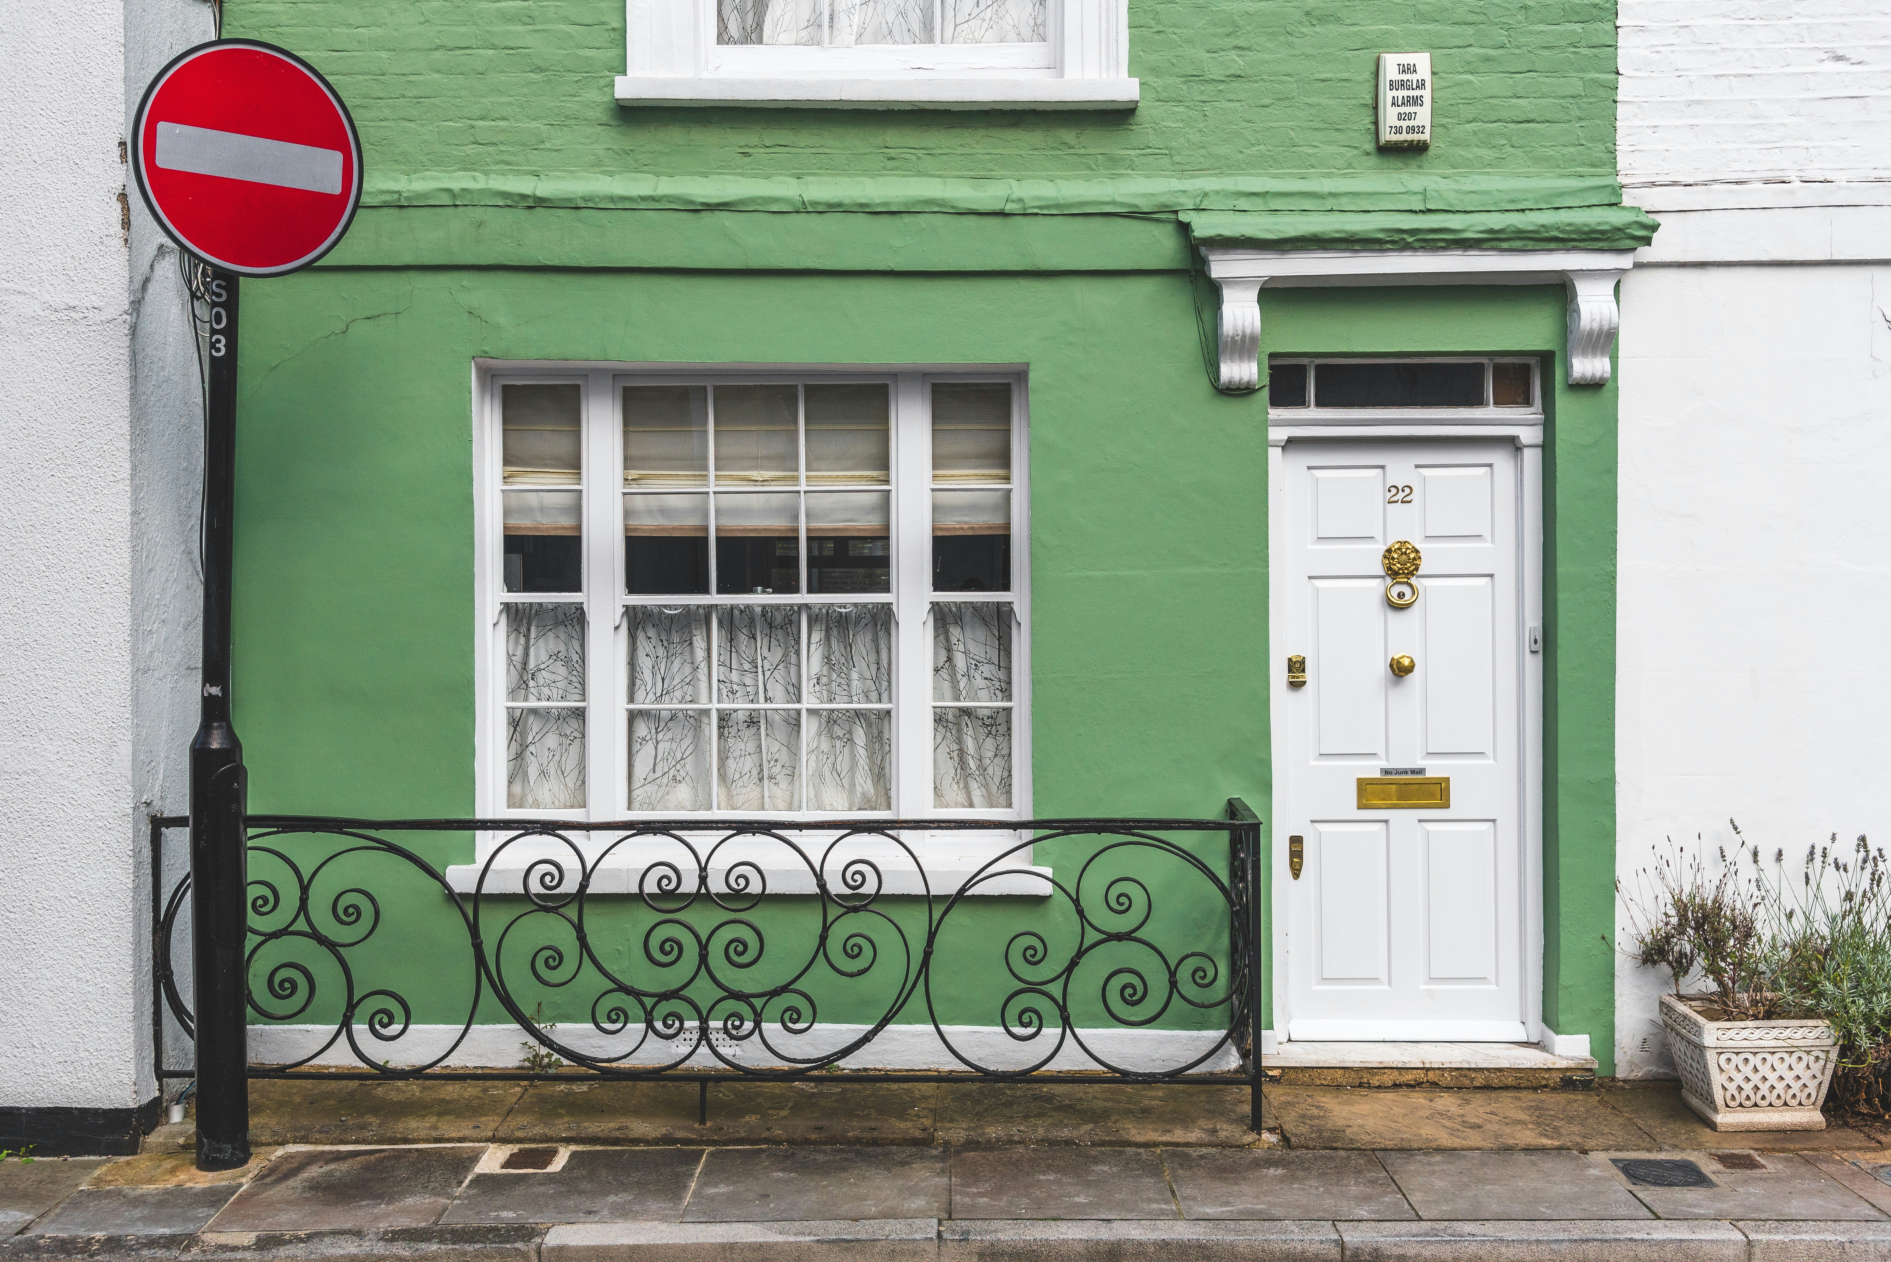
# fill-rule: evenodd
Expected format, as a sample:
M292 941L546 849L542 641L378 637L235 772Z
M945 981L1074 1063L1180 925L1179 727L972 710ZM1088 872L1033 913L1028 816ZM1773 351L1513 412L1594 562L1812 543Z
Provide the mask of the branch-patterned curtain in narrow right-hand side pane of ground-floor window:
M1012 805L1012 606L932 606L932 801L947 810Z

